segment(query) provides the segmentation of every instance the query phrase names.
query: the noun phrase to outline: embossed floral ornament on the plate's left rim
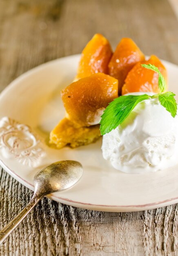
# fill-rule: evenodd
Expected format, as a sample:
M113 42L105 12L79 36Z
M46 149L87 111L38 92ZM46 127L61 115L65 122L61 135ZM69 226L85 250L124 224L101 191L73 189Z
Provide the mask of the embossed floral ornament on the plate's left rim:
M0 120L0 152L6 158L15 157L21 164L31 167L37 166L46 155L31 128L9 117Z

